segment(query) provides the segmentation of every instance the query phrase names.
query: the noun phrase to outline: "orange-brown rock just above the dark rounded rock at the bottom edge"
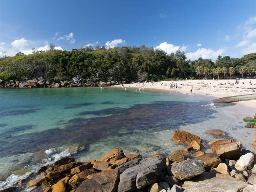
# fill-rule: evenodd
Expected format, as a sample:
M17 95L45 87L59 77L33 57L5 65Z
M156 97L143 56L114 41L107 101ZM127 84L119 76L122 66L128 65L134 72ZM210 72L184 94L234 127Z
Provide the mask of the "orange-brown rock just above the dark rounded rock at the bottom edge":
M73 188L77 188L85 179L87 179L88 175L96 173L97 171L95 169L85 169L84 171L73 175L73 177L68 181L68 184Z

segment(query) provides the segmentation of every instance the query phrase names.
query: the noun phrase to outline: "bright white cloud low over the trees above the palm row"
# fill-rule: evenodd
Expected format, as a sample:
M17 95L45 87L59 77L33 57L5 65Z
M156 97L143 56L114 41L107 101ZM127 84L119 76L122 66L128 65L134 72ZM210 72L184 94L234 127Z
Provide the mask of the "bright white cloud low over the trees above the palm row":
M219 55L222 55L226 51L226 47L214 51L212 49L199 48L196 52L186 53L187 59L191 61L202 57L203 59L211 59L215 61Z

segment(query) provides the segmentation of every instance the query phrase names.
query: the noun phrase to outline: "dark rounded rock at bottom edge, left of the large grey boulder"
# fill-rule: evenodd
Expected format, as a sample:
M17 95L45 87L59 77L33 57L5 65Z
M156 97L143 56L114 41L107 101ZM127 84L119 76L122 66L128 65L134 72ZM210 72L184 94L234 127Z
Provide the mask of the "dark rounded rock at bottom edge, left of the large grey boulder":
M79 187L76 189L76 192L103 192L103 188L100 185L100 183L98 183L95 180L92 179L87 179L84 180L83 183L81 185L79 185Z

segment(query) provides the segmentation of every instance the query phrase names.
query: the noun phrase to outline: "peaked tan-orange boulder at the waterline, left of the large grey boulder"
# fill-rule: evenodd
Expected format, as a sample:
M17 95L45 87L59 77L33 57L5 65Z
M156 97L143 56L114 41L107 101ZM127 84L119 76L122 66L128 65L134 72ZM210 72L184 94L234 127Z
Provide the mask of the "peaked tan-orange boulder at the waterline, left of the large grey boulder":
M124 155L124 152L121 148L115 148L112 151L108 152L103 158L99 161L107 161L110 164L115 164L116 167L128 161L128 158Z

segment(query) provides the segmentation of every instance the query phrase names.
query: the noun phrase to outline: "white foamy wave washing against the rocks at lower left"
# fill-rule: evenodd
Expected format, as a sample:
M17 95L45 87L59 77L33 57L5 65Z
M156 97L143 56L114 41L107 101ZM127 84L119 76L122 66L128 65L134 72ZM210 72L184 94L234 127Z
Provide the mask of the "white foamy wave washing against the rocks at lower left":
M48 150L45 150L45 153L48 155L51 155L49 158L47 159L43 159L42 160L42 164L37 164L37 165L26 165L24 166L24 168L31 168L31 171L26 172L24 175L22 176L18 176L18 175L10 175L9 177L7 177L7 179L5 181L0 181L0 190L7 188L7 187L11 187L13 185L16 185L16 183L21 180L21 179L25 179L26 177L28 177L28 175L30 175L31 173L36 173L38 172L38 169L46 164L53 164L55 161L58 161L59 159L66 157L66 156L71 156L72 154L77 153L77 150L74 151L73 153L69 152L69 149L66 148L64 151L60 151L62 148L50 148ZM57 153L55 153L57 151Z

